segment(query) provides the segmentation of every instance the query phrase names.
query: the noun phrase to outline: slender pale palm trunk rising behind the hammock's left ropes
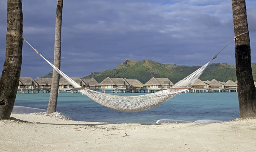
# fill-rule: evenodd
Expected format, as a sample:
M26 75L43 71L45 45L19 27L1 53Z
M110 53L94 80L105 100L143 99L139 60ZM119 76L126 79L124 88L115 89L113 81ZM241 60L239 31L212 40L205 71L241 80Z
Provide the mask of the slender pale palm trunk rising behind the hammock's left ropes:
M54 44L54 66L61 68L61 22L62 22L63 0L57 0L56 22L55 22L55 44ZM52 87L48 103L47 113L56 112L58 100L58 86L60 74L53 70Z

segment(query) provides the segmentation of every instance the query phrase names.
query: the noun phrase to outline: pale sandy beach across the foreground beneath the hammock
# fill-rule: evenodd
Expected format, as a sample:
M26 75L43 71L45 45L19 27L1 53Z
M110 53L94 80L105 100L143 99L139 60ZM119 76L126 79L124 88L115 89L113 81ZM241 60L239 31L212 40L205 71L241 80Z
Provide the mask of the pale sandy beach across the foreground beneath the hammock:
M256 152L255 119L141 125L11 117L28 122L0 120L0 152Z

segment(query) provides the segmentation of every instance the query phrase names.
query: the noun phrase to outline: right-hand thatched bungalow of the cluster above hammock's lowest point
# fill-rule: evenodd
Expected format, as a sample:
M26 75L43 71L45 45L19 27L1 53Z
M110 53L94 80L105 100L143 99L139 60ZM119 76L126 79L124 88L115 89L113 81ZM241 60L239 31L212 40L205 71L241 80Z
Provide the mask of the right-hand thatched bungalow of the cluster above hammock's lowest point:
M146 90L146 86L137 79L125 79L125 81L129 83L128 89L130 92L138 93L141 92L141 90L144 92Z

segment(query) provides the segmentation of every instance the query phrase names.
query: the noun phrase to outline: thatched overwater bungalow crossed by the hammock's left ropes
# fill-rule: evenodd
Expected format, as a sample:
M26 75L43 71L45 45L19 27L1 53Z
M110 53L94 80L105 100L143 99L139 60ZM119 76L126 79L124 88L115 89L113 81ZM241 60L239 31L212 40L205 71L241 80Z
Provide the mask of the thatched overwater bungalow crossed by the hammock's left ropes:
M72 80L74 80L76 83L78 83L80 86L85 86L86 84L84 83L83 80L81 80L81 78L79 77L70 77ZM59 92L61 91L67 91L67 92L74 92L77 90L67 81L64 79L64 77L60 78L60 82L59 82Z

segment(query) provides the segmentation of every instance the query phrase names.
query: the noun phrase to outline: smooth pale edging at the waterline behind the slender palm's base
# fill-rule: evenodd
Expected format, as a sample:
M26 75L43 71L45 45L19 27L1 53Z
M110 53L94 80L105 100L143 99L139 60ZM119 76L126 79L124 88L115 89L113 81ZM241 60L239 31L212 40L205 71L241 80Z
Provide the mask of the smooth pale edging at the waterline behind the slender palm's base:
M45 109L38 109L38 108L30 108L26 106L13 106L12 114L30 114L34 112L46 112ZM61 112L58 112L61 113ZM70 116L61 113L61 115L64 115L65 117L72 119Z

